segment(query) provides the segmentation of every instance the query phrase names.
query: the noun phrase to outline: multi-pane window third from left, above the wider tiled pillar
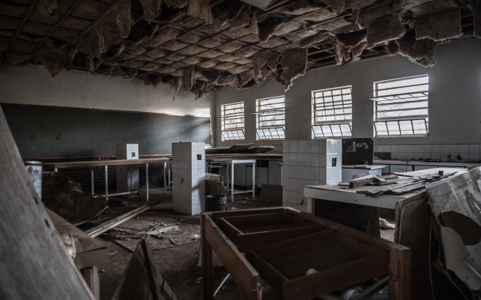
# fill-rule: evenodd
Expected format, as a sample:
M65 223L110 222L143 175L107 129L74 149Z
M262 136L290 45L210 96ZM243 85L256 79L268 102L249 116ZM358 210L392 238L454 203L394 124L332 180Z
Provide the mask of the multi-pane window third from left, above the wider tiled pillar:
M350 137L353 124L352 86L312 91L312 137Z

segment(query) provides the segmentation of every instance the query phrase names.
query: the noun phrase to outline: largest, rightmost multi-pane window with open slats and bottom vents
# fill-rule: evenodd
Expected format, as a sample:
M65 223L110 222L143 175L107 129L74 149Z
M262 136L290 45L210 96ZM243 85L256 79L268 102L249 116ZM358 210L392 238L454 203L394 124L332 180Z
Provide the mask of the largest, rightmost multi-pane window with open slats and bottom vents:
M374 82L377 137L427 135L427 75Z

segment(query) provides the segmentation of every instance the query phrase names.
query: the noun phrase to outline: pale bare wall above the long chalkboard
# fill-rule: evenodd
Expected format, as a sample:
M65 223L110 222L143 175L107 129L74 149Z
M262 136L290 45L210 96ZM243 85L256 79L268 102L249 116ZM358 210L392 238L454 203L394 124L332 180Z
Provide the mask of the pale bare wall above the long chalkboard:
M163 83L157 87L145 86L141 80L65 70L52 78L41 66L0 67L0 103L196 115L213 119L213 94L195 100L193 93L181 88L175 101L172 101L173 95L170 85ZM212 122L213 132L214 126Z

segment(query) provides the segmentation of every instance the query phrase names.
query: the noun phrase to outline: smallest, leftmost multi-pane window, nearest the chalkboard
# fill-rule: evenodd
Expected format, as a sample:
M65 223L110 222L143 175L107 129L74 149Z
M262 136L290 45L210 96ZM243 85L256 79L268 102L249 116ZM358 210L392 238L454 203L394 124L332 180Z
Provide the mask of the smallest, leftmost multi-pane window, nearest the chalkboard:
M240 141L244 137L244 102L223 104L222 141Z

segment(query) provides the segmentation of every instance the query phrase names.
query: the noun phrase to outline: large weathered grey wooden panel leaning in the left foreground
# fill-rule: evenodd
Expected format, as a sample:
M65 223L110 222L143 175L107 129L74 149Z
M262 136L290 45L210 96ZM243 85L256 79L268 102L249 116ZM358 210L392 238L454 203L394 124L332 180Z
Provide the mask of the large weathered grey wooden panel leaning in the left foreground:
M0 109L3 299L94 299L45 212Z

